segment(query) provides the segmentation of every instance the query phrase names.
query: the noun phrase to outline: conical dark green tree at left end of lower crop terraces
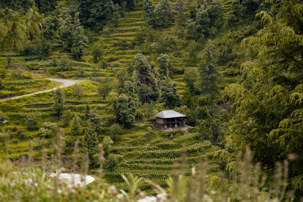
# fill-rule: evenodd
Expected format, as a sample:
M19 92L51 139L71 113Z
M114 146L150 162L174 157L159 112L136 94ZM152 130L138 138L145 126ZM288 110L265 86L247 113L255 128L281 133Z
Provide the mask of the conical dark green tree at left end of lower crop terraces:
M88 127L85 128L84 137L82 140L83 147L87 148L88 157L90 159L89 164L95 166L98 163L98 158L96 159L95 156L98 155L99 148L98 148L99 140L97 133L95 131L95 127L88 124Z

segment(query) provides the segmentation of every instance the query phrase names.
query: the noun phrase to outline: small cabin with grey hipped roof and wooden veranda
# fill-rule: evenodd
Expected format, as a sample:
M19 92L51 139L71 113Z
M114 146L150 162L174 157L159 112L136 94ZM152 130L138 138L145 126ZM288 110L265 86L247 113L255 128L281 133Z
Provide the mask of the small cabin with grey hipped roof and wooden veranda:
M188 119L186 115L174 110L163 110L154 116L156 117L156 125L163 130L185 127L184 119Z

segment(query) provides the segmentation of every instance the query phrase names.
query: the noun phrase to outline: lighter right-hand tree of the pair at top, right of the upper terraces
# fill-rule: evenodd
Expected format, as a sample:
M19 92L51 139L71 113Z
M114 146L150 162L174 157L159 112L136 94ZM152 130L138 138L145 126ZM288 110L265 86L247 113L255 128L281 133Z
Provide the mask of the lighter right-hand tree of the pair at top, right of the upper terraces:
M169 0L160 0L155 7L155 15L158 16L157 26L165 27L167 24L171 25L171 2Z

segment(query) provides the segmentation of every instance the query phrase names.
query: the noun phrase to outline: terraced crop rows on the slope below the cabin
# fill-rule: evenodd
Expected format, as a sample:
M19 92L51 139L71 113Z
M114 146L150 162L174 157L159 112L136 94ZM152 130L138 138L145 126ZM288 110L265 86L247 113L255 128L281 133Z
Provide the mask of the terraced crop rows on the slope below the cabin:
M155 128L153 130L156 130ZM122 137L123 138L123 137ZM160 185L167 189L166 181L172 174L173 165L181 163L182 145L186 145L186 175L191 175L192 167L196 167L199 158L202 161L208 160L208 177L218 176L219 164L213 160L213 154L217 147L209 141L201 141L197 133L186 133L175 131L172 139L168 139L165 133L161 133L157 139L153 139L148 144L140 146L120 146L112 148L111 153L121 160L114 169L104 169L104 179L115 185L118 189L126 189L127 184L121 174L132 173L135 176L143 177L140 187L146 193L154 193L152 185L144 179Z

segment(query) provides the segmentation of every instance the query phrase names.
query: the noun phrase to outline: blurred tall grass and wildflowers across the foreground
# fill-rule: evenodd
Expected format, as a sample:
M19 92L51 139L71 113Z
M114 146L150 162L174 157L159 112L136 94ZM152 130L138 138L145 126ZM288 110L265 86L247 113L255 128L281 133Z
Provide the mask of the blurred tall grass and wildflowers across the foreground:
M6 138L8 145L9 132ZM33 147L30 141L29 153L24 161L26 166L16 166L9 159L0 159L0 201L294 201L293 190L288 189L288 161L277 163L273 181L267 181L262 175L261 164L251 163L251 151L246 149L244 154L238 155L238 160L233 168L232 177L226 179L224 174L209 178L206 175L207 161L201 161L198 169L192 168L191 176L185 176L186 147L183 147L182 160L174 164L174 170L168 179L168 190L159 185L135 177L132 174L122 176L128 185L127 190L116 188L102 180L95 180L88 187L76 184L67 184L56 177L47 177L49 171L60 174L62 167L62 148L64 134L60 132L58 144L54 146L49 161L46 150L42 151L42 161L39 165L33 160ZM103 148L100 145L100 162L102 171ZM8 150L9 148L7 148ZM88 172L87 151L82 154L81 168L78 169L79 160L78 142L74 147L73 171L82 174L82 180ZM51 162L50 168L48 164ZM101 178L102 173L95 176ZM140 190L142 183L147 181L158 193L148 196Z

